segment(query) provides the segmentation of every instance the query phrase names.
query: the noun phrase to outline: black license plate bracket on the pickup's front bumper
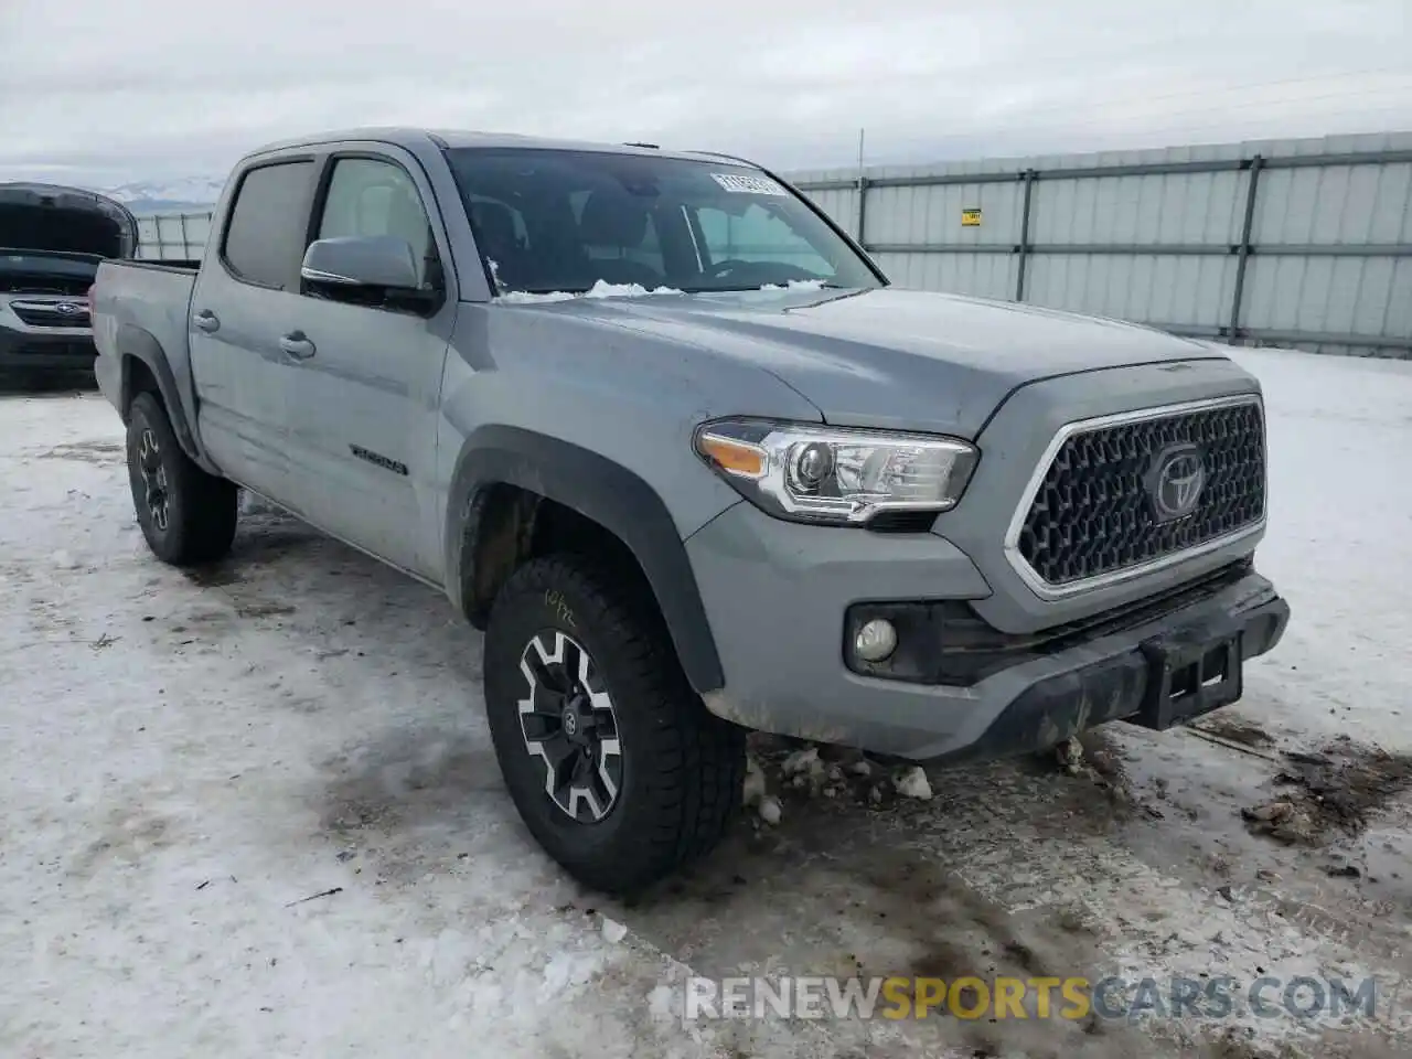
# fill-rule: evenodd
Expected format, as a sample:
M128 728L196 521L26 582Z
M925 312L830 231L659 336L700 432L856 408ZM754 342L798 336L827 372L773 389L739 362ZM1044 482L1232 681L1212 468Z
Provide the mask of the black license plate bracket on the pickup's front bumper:
M1132 720L1163 731L1236 702L1244 690L1243 637L1231 631L1145 641L1148 686Z

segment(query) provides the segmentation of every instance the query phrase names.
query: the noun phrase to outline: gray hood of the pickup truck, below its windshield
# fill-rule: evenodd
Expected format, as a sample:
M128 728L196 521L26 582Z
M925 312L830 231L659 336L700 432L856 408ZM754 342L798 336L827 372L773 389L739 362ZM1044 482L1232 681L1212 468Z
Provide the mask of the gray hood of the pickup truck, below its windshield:
M969 439L1027 383L1223 359L1207 345L1120 321L895 287L575 298L542 311L746 360L836 425Z

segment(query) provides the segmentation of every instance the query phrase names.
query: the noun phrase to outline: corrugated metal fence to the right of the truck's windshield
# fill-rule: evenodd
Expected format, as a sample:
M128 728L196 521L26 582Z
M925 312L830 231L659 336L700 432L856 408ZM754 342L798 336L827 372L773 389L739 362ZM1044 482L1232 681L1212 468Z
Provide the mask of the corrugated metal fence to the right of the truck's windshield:
M1412 356L1412 134L789 174L898 284Z

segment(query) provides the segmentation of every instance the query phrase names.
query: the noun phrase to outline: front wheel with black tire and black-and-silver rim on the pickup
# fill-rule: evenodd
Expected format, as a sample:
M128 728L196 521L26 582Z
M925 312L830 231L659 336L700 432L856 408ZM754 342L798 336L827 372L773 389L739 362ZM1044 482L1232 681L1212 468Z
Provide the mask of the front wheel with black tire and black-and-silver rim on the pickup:
M621 579L569 555L515 570L486 630L486 710L510 796L535 840L585 885L633 894L724 834L740 808L746 733L702 705L655 607L614 583ZM599 747L580 748L578 778L551 794L549 761L569 738L573 710L555 726L552 716L521 716L521 700L552 714L570 671L587 675L570 702L590 717L578 730L592 729ZM604 748L610 741L616 754Z

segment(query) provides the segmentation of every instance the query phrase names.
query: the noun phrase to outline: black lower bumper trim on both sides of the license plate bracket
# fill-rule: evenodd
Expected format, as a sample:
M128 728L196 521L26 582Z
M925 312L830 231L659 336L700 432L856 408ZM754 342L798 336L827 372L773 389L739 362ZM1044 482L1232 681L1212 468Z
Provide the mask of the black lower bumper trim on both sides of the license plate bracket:
M1247 610L1221 609L1178 621L1166 631L1202 641L1240 630L1244 661L1274 648L1288 624L1289 604L1274 596ZM1099 724L1132 717L1147 698L1149 669L1138 642L1101 661L1045 678L1021 692L980 738L936 761L962 764L1035 753Z

